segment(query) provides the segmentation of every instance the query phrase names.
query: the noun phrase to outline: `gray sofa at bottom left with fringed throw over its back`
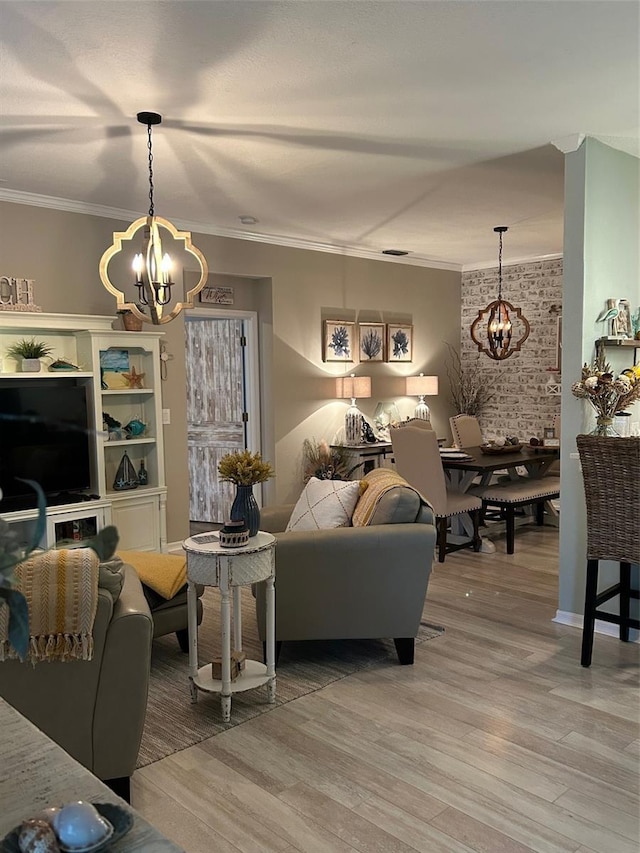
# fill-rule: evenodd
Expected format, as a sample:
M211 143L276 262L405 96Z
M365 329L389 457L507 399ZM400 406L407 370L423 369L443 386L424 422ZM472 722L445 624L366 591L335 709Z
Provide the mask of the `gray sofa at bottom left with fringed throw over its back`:
M125 564L122 575L98 589L91 661L4 661L0 695L128 800L147 708L153 621L135 571Z

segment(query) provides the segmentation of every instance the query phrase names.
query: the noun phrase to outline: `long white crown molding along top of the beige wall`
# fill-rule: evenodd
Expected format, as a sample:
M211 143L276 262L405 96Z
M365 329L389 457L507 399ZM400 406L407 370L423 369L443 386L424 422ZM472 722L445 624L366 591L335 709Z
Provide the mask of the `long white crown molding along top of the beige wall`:
M132 222L141 214L140 211L122 210L117 207L106 207L99 204L88 204L83 201L74 201L67 198L56 198L55 196L38 195L37 193L26 193L20 190L11 190L0 187L0 201L13 204L25 204L32 207L46 207L51 210L62 210L67 213L81 213L86 216L100 216L105 219L118 219L124 222ZM229 237L233 240L249 240L255 243L269 243L273 246L286 246L290 249L303 249L310 252L327 252L332 255L346 255L352 258L367 258L374 261L382 261L390 264L407 264L409 266L429 267L430 269L450 270L460 272L460 264L438 261L421 255L404 255L397 257L383 255L374 249L365 249L360 246L348 244L320 243L314 240L306 240L297 237L285 237L279 234L263 234L256 231L243 231L236 228L220 228L204 222L193 222L188 219L171 219L171 222L181 231L191 231L195 234L211 234L215 237Z

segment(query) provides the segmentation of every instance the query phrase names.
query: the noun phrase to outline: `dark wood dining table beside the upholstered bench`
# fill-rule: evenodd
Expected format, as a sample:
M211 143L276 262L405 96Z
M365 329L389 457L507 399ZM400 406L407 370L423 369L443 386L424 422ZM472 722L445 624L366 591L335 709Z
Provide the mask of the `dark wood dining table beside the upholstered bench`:
M472 485L487 485L497 471L504 471L513 480L521 476L532 479L542 477L559 456L559 447L530 444L510 445L505 448L440 448L442 467L449 486L457 492L466 492ZM477 477L480 477L479 482ZM452 541L470 538L472 535L473 525L467 513L452 519ZM480 551L492 554L495 552L495 545L483 537Z

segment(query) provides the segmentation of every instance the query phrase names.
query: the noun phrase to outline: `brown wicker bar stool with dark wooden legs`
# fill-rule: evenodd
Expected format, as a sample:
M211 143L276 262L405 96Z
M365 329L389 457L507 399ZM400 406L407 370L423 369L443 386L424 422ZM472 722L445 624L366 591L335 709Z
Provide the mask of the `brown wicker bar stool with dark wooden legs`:
M577 436L587 503L587 583L582 629L582 666L591 666L596 618L620 626L620 639L629 640L629 628L640 621L629 615L631 564L640 563L640 438ZM620 579L598 592L600 560L620 564ZM618 596L620 614L600 610Z

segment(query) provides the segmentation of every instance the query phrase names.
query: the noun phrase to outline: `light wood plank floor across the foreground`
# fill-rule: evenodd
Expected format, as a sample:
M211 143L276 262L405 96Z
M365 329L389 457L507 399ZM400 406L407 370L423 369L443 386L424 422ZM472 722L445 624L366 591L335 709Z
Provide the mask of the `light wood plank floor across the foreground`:
M445 634L414 666L145 767L133 805L189 853L637 853L640 649L596 635L580 666L580 631L551 621L557 537L447 556L426 610Z

